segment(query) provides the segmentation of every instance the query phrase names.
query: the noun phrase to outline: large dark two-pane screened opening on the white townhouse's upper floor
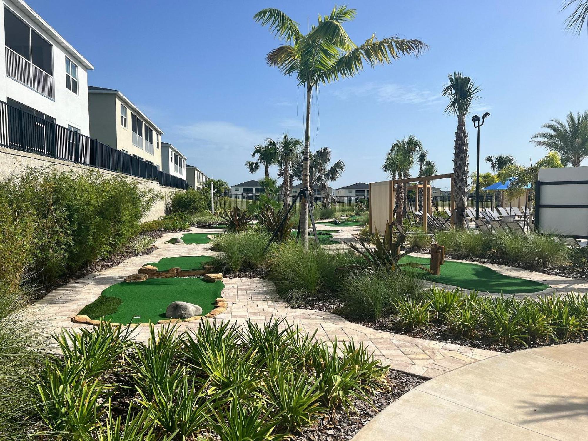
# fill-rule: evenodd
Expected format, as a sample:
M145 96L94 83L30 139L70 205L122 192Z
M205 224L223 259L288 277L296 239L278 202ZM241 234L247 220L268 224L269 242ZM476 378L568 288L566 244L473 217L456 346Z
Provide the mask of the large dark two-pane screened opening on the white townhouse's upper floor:
M4 8L4 39L16 54L53 75L53 46L8 8Z

